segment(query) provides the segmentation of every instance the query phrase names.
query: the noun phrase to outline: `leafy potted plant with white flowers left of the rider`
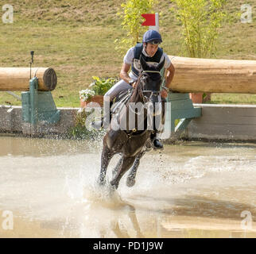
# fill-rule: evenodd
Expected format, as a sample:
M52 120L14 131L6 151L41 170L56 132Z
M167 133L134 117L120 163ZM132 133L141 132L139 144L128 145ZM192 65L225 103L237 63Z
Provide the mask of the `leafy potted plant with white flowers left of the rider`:
M97 76L92 76L92 79L94 79L94 82L91 83L90 89L95 92L95 95L106 94L107 91L110 90L111 87L118 82L118 79L116 78L104 79L104 78L99 78Z

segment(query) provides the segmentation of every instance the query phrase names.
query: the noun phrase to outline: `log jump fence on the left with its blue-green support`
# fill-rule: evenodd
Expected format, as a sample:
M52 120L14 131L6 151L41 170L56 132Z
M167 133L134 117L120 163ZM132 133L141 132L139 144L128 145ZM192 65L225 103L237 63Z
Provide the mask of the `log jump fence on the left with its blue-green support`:
M49 67L0 67L0 90L22 91L22 121L32 125L60 120L51 93L56 83L56 72Z

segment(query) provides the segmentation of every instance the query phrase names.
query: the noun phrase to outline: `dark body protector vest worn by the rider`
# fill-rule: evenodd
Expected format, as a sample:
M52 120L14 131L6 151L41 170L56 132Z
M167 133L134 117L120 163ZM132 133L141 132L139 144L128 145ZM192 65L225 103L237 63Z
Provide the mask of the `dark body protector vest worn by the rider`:
M140 72L143 71L142 65L140 62L141 55L147 64L153 64L153 65L159 64L160 60L161 60L161 56L163 56L163 49L159 48L159 47L157 49L157 52L152 57L145 56L142 53L142 50L143 50L143 44L142 43L136 44L135 51L134 51L134 60L133 60L132 66L131 66L131 70L133 71L134 75L136 75L136 76L138 76L140 74Z

